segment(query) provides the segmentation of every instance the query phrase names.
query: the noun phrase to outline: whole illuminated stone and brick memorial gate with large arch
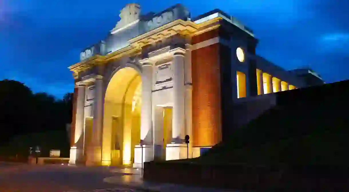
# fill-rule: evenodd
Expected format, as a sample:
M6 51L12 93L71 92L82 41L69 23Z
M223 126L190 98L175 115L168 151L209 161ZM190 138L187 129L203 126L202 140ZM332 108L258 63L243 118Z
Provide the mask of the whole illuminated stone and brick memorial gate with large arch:
M220 10L191 19L176 5L141 15L133 3L120 17L105 40L69 67L76 84L71 164L141 167L200 156L230 134L223 127L231 126L232 102L263 94L264 74L303 86L260 62L252 32Z

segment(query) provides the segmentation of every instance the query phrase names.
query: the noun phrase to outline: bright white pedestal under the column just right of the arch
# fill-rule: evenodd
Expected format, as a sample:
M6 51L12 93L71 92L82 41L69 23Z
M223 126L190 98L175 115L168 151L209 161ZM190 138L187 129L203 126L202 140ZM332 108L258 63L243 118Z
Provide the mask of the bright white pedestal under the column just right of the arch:
M153 161L153 146L152 145L143 145L143 163ZM142 147L136 145L134 148L134 168L142 168Z

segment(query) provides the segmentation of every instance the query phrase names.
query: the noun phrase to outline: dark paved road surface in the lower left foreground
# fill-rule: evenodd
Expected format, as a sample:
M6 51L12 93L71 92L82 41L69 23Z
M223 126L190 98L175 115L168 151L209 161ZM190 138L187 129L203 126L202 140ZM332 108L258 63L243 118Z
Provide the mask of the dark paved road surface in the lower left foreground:
M32 166L0 163L1 192L80 192L136 191L131 187L103 182L103 178L122 176L104 168L68 165Z

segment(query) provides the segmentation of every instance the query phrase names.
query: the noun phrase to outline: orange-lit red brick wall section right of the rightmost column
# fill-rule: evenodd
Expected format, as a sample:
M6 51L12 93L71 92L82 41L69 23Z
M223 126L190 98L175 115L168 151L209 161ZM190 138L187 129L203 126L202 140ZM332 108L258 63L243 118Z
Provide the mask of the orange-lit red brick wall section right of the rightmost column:
M194 36L196 44L218 36L218 29ZM221 141L221 82L219 43L192 51L193 146Z

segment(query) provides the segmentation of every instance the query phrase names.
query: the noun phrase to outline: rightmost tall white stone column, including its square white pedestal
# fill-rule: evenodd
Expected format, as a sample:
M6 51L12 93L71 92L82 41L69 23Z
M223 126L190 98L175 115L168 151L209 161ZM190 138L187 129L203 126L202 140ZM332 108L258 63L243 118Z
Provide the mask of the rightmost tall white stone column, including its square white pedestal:
M172 106L172 142L166 145L166 160L186 158L185 136L185 85L184 62L185 49L175 48L171 50L173 59L173 106Z

